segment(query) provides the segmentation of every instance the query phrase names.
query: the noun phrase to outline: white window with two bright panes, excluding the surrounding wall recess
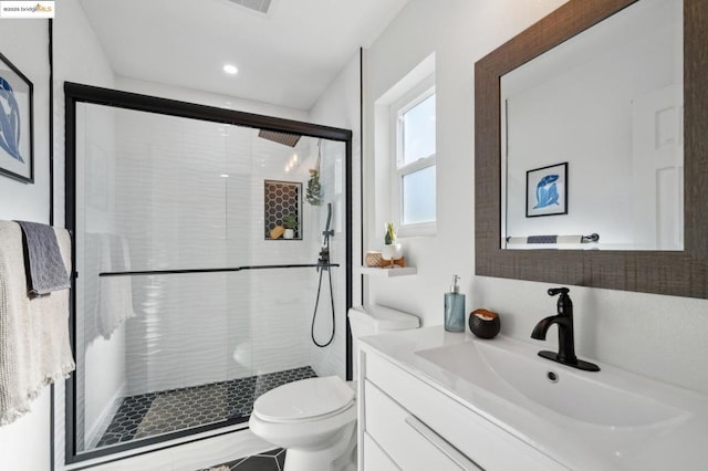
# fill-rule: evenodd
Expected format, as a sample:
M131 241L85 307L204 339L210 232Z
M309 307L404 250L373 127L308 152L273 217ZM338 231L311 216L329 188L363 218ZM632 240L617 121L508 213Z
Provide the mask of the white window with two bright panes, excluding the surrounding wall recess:
M435 111L433 76L392 105L396 132L393 212L402 236L435 231Z

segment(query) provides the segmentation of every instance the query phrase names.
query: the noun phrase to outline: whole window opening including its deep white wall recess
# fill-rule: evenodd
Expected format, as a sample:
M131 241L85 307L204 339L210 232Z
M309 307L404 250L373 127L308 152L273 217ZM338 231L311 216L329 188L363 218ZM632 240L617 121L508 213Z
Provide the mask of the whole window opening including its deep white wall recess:
M368 237L381 243L381 228L393 221L399 237L436 231L435 52L376 98L371 188L362 195L373 209Z

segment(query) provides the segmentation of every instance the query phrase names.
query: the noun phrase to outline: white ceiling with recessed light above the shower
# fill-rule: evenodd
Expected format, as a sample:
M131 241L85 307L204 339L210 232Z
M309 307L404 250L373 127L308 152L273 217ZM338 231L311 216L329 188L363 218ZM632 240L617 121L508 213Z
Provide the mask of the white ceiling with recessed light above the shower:
M230 0L80 3L117 75L309 111L407 1L272 0L268 13Z

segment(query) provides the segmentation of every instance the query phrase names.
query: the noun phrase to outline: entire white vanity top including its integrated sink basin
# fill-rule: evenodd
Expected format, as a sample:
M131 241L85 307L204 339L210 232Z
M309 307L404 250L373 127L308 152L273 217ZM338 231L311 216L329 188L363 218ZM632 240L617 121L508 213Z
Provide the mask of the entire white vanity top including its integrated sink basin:
M707 395L611 365L575 369L538 356L550 345L502 335L431 326L362 344L497 427L485 433L510 433L568 469L707 469Z

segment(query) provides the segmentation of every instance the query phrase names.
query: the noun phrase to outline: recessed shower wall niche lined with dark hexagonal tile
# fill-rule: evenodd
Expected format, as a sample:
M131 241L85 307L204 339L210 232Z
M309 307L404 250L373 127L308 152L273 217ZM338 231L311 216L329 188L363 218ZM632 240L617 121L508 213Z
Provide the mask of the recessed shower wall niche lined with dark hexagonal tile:
M294 239L302 240L302 184L296 181L266 180L263 192L264 233L267 240ZM289 217L294 217L293 237L273 230L278 227L288 229Z

